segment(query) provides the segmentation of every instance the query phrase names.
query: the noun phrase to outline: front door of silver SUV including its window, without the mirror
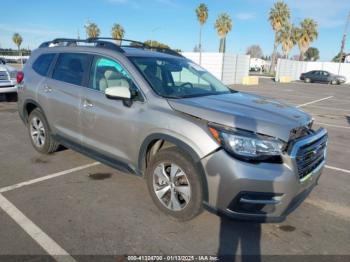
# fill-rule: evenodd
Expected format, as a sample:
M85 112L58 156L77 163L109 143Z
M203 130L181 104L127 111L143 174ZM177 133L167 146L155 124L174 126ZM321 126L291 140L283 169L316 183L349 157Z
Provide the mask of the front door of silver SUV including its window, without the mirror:
M91 67L89 87L83 89L81 97L83 140L87 147L104 156L132 163L134 159L131 156L138 150L135 143L139 132L137 123L145 104L140 92L130 107L121 100L108 99L106 88L118 86L139 90L120 62L96 56Z

